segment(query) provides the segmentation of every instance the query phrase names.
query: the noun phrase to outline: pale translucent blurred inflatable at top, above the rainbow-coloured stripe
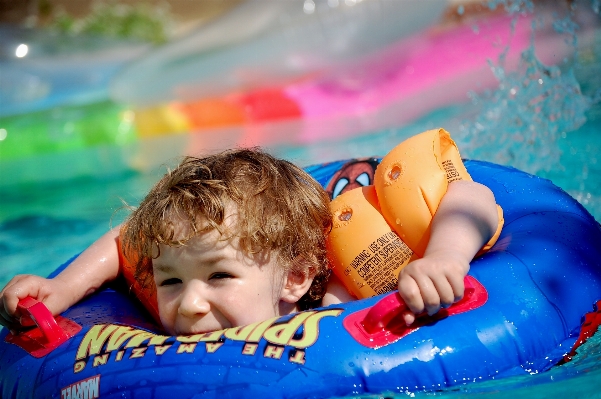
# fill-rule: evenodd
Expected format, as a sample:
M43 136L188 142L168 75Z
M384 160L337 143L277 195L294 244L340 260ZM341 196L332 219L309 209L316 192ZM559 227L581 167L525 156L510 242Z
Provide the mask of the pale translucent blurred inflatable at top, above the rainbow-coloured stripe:
M444 0L247 0L111 82L129 104L197 99L330 70L436 22Z

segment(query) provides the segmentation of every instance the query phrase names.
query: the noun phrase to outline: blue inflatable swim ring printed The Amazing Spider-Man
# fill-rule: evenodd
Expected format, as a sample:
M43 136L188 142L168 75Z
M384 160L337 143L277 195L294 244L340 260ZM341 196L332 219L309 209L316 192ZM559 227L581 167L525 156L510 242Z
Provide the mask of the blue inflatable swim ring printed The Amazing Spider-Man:
M308 170L331 187L346 164ZM583 315L601 299L601 228L547 180L485 162L466 166L494 192L505 215L498 242L472 262L476 294L466 296L475 306L467 311L449 311L411 331L392 320L372 331L372 339L357 315L387 294L247 327L170 337L161 335L126 290L107 288L62 315L81 330L70 330L73 337L40 357L6 342L12 334L2 330L0 394L305 399L434 391L544 371L572 349Z

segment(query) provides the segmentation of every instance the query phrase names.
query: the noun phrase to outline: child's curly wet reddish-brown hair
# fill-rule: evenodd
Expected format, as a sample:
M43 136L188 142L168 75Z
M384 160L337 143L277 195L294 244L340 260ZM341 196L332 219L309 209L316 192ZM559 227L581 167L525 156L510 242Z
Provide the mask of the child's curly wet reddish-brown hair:
M231 204L236 223L226 226ZM152 281L147 259L159 255L159 244L185 245L200 232L216 229L224 239L237 237L247 256L277 256L287 271L315 273L298 302L300 309L308 309L319 306L325 294L331 220L327 193L301 168L257 148L235 149L184 158L132 212L120 240L125 256L136 264L136 279L145 286Z

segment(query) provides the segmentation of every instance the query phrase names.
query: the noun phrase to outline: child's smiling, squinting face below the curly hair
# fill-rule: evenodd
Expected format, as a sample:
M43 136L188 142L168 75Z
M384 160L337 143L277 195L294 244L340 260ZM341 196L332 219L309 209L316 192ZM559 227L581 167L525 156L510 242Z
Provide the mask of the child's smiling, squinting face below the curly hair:
M218 231L182 247L161 245L153 260L161 323L169 334L189 335L280 316L284 272L275 256L260 260L238 250Z

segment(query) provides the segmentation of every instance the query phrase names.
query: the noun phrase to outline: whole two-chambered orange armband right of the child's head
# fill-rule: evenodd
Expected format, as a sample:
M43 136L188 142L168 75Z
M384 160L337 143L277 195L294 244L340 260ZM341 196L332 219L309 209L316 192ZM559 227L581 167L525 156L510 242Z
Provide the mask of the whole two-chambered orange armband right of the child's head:
M328 253L349 292L367 298L396 289L398 273L423 256L430 224L449 183L472 180L444 129L413 136L386 155L374 186L348 191L330 205ZM503 226L503 212L490 248ZM395 234L396 233L396 234Z

